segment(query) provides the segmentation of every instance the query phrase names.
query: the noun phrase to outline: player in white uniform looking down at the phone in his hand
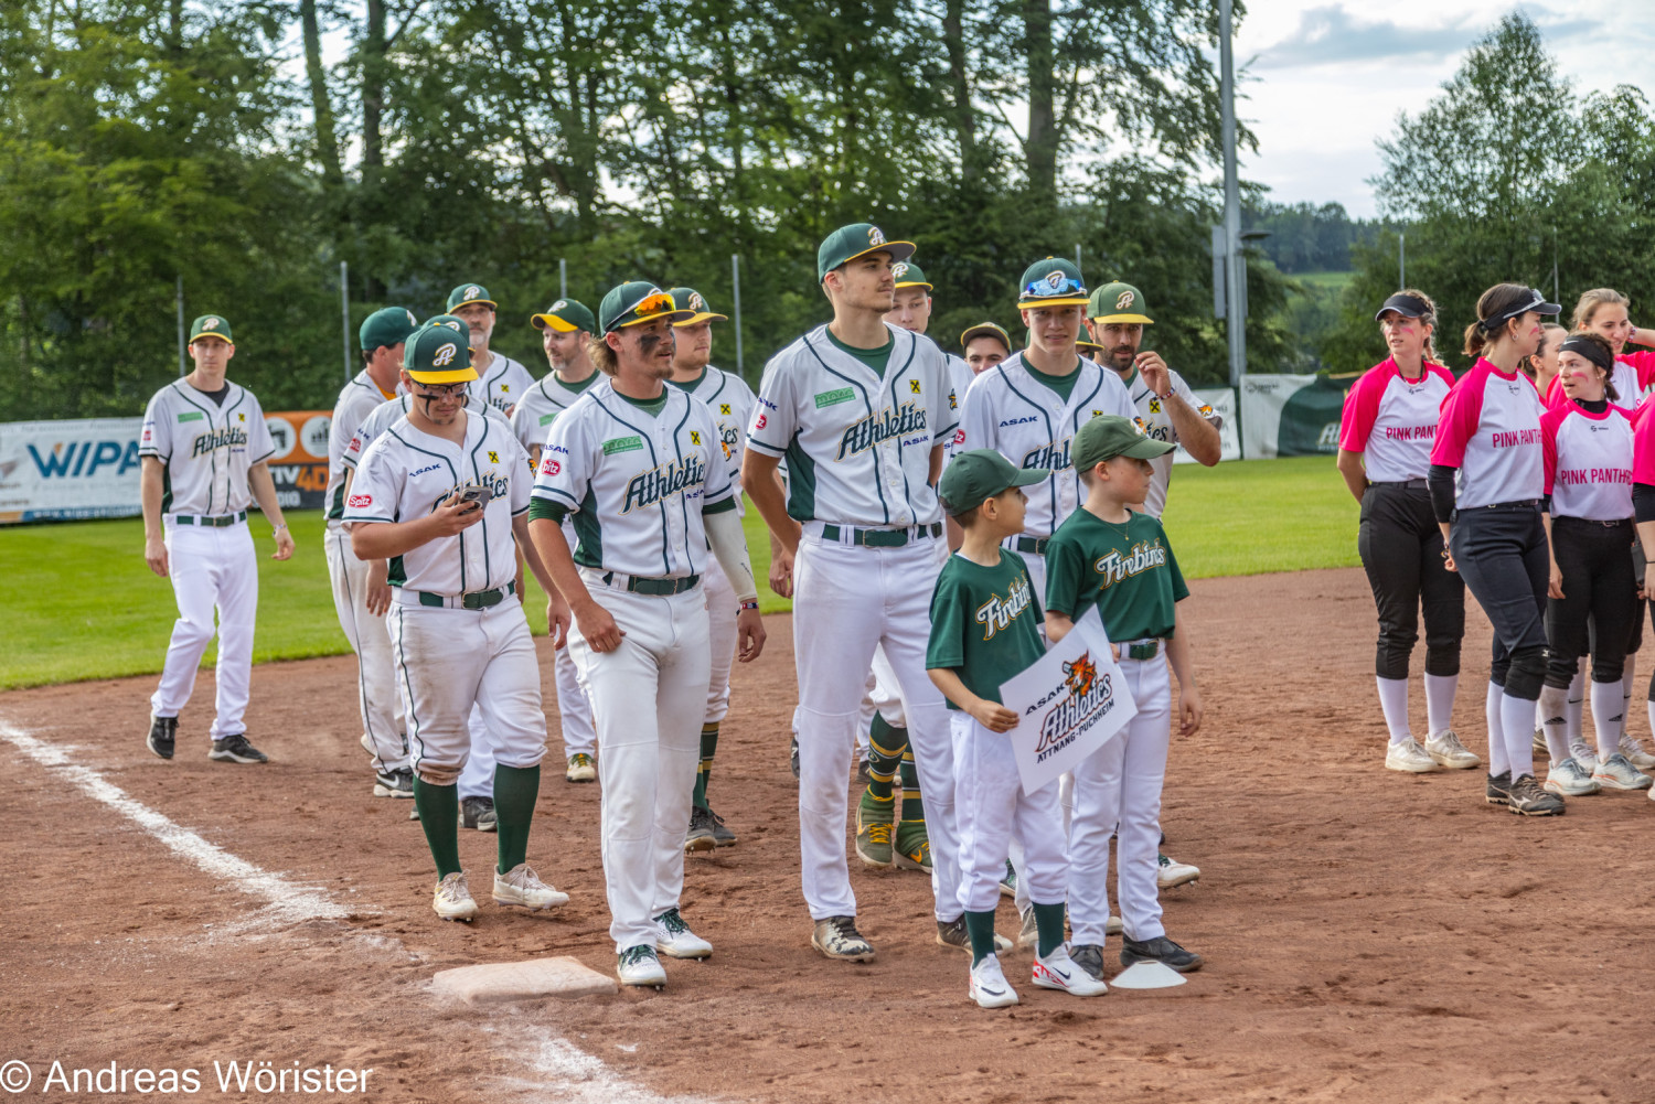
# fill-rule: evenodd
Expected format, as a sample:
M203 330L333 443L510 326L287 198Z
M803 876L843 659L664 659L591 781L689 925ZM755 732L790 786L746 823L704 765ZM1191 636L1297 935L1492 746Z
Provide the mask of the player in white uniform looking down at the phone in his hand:
M386 617L414 746L414 803L437 862L432 907L445 920L477 915L457 826L473 707L495 743L495 902L535 910L568 902L526 862L546 715L513 545L548 591L551 578L528 545L528 455L505 420L465 409L475 376L463 334L415 331L402 369L409 410L362 454L344 503L356 554L391 561ZM554 647L568 622L554 607Z

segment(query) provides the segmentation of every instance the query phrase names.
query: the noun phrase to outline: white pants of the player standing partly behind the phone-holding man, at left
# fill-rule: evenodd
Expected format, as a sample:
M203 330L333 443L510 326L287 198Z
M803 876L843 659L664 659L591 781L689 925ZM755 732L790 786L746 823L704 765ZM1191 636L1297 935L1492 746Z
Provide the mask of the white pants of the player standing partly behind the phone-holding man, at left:
M386 619L367 612L367 561L351 551L351 531L329 521L323 536L333 609L339 614L344 639L356 652L356 705L362 713L362 746L374 756L374 770L404 770L409 742L404 735L402 698L397 694L396 660Z

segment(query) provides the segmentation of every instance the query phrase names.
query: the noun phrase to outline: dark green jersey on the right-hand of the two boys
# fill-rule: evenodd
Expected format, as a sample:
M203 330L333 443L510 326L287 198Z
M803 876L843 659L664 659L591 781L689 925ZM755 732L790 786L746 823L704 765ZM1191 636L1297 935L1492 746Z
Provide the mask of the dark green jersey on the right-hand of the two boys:
M1173 604L1190 596L1160 521L1125 525L1076 510L1046 545L1046 609L1079 617L1094 602L1111 641L1170 637Z

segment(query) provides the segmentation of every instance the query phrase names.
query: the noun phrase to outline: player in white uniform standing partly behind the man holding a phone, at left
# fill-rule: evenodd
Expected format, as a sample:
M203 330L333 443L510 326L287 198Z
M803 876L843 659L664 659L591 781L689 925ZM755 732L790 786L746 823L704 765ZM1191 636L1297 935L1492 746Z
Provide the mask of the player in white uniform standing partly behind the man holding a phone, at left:
M372 564L351 551L351 533L344 525L344 454L354 430L396 397L402 344L417 326L412 311L401 306L374 311L362 321L357 331L362 371L339 391L328 432L328 530L323 546L333 583L333 609L339 616L344 639L356 652L356 700L362 713L362 746L374 756L376 798L412 798L414 768L409 765L391 636L384 622L389 586L382 571L377 588L369 586Z

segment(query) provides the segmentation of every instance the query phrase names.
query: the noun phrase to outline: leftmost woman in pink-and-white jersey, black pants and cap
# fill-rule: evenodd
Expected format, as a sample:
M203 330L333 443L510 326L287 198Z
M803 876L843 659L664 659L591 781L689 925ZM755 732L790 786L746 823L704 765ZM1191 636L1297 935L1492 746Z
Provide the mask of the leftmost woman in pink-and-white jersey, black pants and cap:
M1465 636L1465 583L1443 558L1425 475L1432 467L1438 409L1453 376L1437 361L1437 305L1423 291L1385 300L1379 331L1390 358L1362 374L1339 420L1339 473L1362 503L1357 553L1379 607L1374 674L1390 730L1385 768L1422 775L1481 765L1451 728ZM1408 657L1425 612L1425 746L1408 723Z

